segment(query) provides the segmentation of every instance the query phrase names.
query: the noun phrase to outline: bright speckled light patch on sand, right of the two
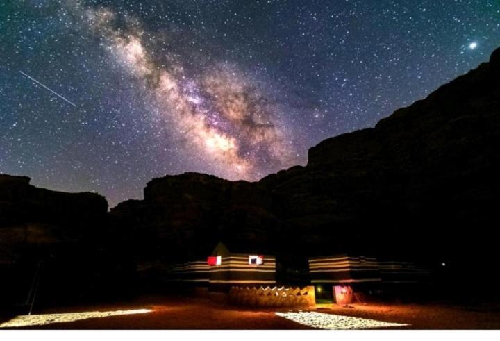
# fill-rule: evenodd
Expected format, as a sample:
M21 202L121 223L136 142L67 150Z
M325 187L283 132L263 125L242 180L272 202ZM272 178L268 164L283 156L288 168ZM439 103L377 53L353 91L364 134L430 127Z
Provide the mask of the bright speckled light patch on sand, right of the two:
M276 315L290 319L299 324L305 324L317 329L371 329L408 326L408 324L381 322L374 319L360 317L317 313L315 311L298 313L276 313Z

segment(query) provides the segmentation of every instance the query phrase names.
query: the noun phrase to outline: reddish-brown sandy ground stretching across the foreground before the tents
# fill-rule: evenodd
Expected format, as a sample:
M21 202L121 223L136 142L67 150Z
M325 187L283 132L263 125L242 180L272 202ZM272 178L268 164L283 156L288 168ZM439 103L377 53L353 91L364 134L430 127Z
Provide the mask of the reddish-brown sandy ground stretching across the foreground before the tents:
M117 312L119 310L119 312ZM406 324L391 328L416 329L500 329L500 307L450 306L447 304L353 304L353 308L322 305L307 309L317 316L342 319L342 316L361 317L378 322ZM127 313L130 312L130 313ZM143 297L129 303L99 306L78 306L35 310L34 319L44 325L23 328L45 329L308 329L305 324L276 315L297 313L290 309L251 309L226 306L209 299ZM67 315L83 318L73 322ZM97 313L93 317L94 313ZM317 314L321 313L321 314ZM128 315L119 315L128 314ZM338 316L328 316L333 314ZM286 314L283 314L286 315ZM294 314L291 314L294 315ZM83 317L82 317L83 316ZM33 317L31 317L33 318ZM0 319L5 324L10 318ZM50 320L50 321L49 321ZM297 319L296 319L297 320ZM39 322L40 322L39 321Z

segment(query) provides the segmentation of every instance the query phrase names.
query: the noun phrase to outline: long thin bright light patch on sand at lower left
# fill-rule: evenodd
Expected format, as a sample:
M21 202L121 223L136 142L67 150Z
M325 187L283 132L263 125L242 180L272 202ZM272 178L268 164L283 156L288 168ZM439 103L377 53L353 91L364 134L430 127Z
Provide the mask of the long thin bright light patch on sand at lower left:
M99 317L110 317L117 315L133 315L150 313L151 309L132 309L115 311L86 311L83 313L65 314L42 314L42 315L19 315L8 322L0 324L0 328L43 326L44 324L74 322L81 319L94 319Z

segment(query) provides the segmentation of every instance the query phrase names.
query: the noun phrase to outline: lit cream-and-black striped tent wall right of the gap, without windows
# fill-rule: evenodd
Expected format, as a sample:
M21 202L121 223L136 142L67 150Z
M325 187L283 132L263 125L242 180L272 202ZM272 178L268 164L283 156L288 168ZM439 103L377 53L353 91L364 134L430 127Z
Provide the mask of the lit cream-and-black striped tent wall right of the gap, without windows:
M378 262L365 256L309 258L311 283L369 283L381 281Z

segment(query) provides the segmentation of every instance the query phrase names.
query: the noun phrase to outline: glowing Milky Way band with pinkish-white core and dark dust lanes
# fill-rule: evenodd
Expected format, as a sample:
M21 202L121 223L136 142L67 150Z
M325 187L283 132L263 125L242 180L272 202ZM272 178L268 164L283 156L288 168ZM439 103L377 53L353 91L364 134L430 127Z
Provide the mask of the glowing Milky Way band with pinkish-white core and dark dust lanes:
M119 29L113 28L117 18L108 8L86 10L85 16L104 48L146 88L158 119L165 118L188 149L216 165L217 174L256 180L263 169L299 161L285 143L283 126L276 125L272 106L238 69L210 65L190 76L181 60L148 51L136 19L129 17ZM168 32L150 34L154 44L159 44L157 35Z

